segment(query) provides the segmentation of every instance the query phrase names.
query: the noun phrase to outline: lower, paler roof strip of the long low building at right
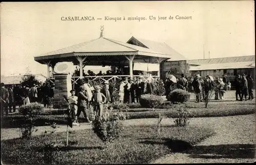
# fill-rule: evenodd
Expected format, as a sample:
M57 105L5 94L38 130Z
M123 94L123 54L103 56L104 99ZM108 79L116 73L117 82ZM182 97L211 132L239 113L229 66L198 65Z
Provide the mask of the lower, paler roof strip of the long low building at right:
M255 68L255 61L202 64L199 66L190 66L189 70L193 71L236 68Z

